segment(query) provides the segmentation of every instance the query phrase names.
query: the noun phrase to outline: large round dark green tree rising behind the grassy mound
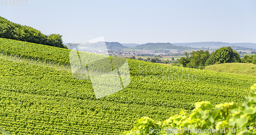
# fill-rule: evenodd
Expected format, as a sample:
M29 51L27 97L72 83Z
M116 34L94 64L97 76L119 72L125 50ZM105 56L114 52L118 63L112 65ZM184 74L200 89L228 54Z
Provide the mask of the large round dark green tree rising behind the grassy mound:
M212 52L205 65L241 62L237 51L233 50L230 46L221 47L215 52Z

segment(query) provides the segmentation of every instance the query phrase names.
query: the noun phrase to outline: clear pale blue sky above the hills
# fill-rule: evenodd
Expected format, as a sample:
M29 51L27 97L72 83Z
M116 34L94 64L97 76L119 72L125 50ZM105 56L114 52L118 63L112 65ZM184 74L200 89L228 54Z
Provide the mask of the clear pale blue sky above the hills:
M8 0L9 1L9 0ZM13 0L11 0L13 2ZM20 2L21 3L21 2ZM63 42L256 43L256 1L39 1L0 2L0 16L60 34Z

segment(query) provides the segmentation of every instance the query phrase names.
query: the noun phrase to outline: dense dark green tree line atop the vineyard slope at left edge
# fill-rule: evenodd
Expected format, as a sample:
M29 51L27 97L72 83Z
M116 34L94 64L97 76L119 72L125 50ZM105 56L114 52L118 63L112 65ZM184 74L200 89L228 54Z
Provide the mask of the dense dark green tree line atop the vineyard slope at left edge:
M59 34L44 35L30 26L13 23L0 16L0 38L67 48L61 37Z

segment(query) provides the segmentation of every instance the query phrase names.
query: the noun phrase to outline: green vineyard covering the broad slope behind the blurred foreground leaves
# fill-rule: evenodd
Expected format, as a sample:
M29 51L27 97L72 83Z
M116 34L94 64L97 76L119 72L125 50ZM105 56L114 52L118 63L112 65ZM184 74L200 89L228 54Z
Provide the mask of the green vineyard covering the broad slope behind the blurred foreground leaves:
M70 50L47 45L0 38L0 51L70 64ZM120 134L143 116L163 121L182 109L189 113L195 102L240 104L256 82L255 76L127 61L131 83L96 99L90 79L0 58L0 127L11 134Z

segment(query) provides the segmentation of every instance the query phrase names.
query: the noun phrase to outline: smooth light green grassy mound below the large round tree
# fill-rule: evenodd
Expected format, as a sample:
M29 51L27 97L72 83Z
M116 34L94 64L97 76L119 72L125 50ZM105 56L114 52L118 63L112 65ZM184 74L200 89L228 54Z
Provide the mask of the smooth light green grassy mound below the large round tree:
M256 76L256 65L251 63L225 63L206 66L205 70Z

